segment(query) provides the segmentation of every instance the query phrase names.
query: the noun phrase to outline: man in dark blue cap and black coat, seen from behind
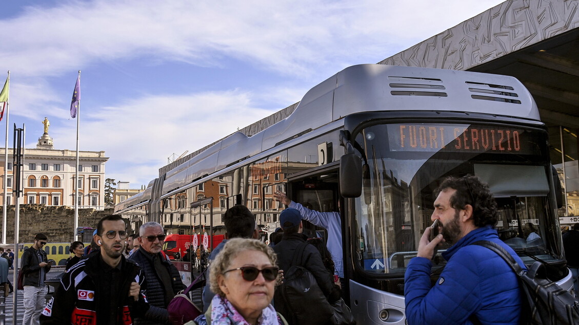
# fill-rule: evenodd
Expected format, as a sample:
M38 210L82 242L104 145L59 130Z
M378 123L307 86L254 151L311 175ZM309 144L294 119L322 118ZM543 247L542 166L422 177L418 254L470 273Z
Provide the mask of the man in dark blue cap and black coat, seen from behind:
M294 260L294 252L296 248L306 242L307 236L302 234L302 215L296 209L288 208L283 210L280 213L280 223L284 230L283 237L281 238L281 241L274 246L273 251L277 254L278 267L284 271L288 271L290 267L294 266L292 261ZM320 252L313 245L306 245L303 250L302 258L297 265L305 267L310 271L310 273L312 273L314 278L316 278L318 286L327 298L332 291L333 275L324 267ZM299 312L287 309L280 287L276 289L273 301L276 311L281 313L285 319L290 320L292 319L293 312Z

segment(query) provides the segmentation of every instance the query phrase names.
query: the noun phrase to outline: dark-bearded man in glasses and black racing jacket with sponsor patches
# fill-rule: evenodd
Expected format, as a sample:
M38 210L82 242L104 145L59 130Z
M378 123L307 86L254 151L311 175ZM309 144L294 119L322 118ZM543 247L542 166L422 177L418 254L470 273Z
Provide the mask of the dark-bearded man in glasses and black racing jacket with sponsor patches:
M124 325L149 308L142 271L123 256L126 224L119 215L98 221L100 250L73 265L42 311L43 325Z

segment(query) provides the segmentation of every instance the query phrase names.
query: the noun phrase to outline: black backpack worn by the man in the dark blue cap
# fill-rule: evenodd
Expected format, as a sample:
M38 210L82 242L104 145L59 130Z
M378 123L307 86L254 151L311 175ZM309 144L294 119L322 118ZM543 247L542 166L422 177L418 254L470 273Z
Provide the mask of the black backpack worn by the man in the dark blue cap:
M293 266L284 274L281 293L285 306L291 312L288 315L290 324L325 324L334 315L334 309L312 272L299 265L307 245L307 242L301 243L296 248L292 258Z

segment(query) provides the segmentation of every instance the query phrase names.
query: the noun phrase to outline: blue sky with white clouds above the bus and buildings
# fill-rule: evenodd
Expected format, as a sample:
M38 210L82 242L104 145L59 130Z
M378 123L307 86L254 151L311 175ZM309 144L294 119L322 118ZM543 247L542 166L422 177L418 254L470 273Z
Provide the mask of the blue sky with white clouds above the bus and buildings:
M9 146L16 123L25 125L26 147L36 147L47 117L54 149L75 150L69 109L80 70L79 149L104 151L105 176L140 188L169 157L501 2L2 0Z

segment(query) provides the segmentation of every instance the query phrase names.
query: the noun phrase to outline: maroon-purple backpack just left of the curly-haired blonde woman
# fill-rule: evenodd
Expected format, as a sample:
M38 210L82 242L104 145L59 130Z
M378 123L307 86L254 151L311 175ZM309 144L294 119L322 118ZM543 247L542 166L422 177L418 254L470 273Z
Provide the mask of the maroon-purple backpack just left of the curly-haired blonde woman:
M207 269L206 269L207 271ZM205 275L205 271L201 272L199 276L187 287L185 290L179 291L173 297L167 306L169 314L169 323L171 325L182 325L190 320L195 320L197 316L201 315L201 309L191 301L190 291L204 287L206 280L200 281L201 277Z

